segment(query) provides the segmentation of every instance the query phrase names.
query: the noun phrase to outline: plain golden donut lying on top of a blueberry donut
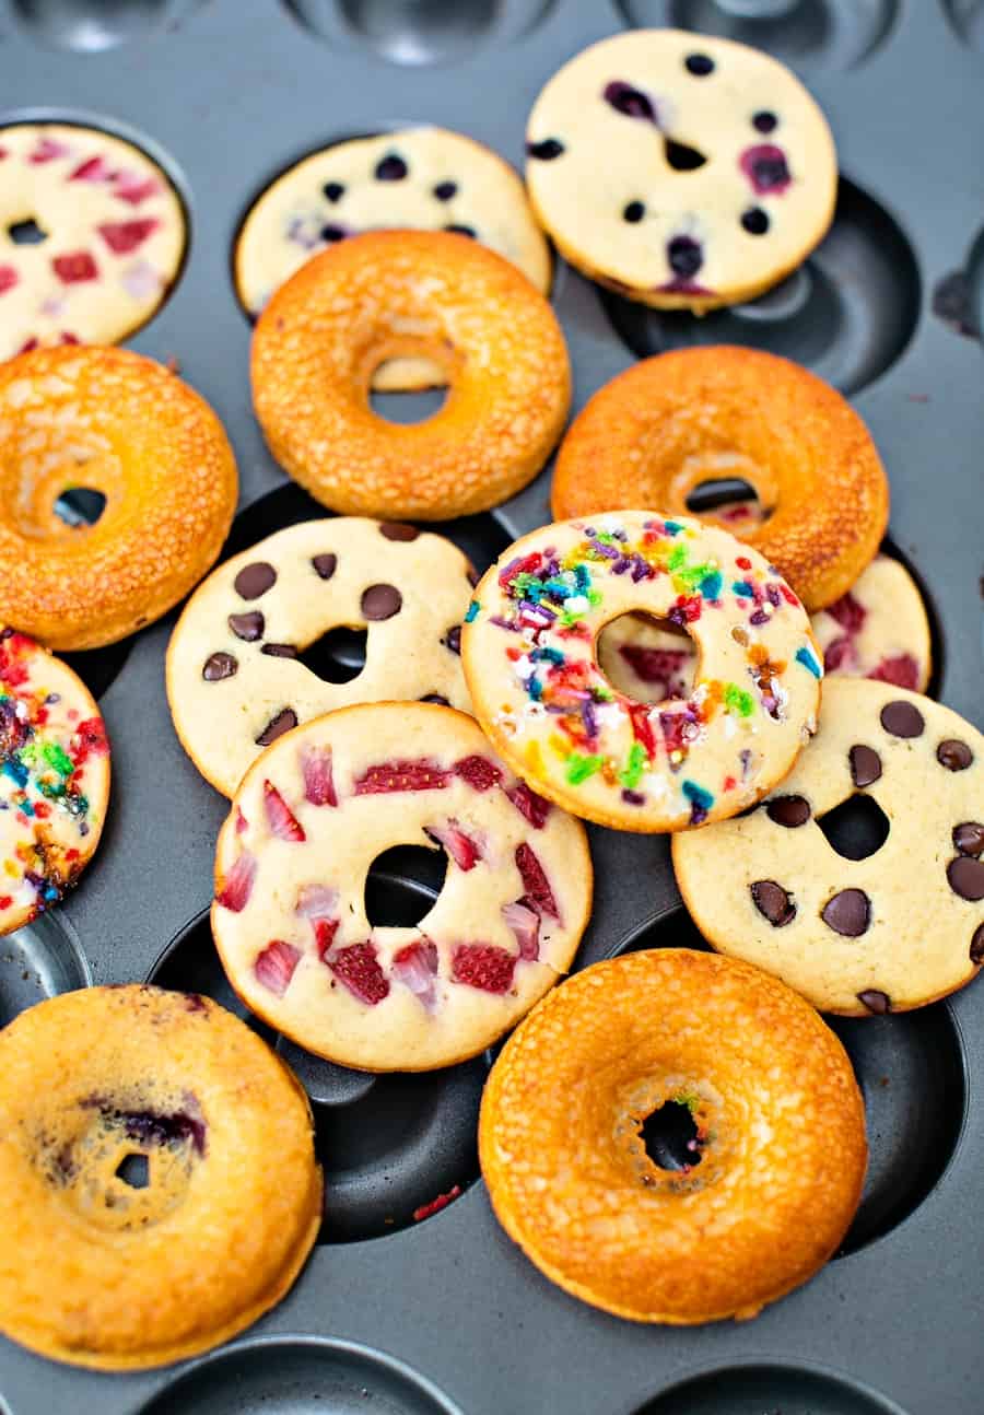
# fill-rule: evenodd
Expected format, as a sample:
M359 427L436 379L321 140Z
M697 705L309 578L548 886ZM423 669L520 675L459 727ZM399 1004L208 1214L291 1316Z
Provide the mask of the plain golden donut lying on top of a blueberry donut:
M444 408L400 426L369 408L387 359L444 369ZM571 374L526 276L467 236L373 231L314 256L253 334L253 406L270 451L346 515L447 521L488 511L547 460Z

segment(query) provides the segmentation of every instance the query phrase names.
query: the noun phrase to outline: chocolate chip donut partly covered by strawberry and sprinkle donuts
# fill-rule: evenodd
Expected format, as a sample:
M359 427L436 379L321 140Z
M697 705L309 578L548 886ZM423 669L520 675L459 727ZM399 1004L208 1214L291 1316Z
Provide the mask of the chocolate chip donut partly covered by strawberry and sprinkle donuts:
M358 516L305 521L233 556L171 635L167 695L185 751L230 797L264 747L334 708L424 699L468 710L461 621L475 579L444 536ZM366 631L365 668L324 682L303 655L339 627Z

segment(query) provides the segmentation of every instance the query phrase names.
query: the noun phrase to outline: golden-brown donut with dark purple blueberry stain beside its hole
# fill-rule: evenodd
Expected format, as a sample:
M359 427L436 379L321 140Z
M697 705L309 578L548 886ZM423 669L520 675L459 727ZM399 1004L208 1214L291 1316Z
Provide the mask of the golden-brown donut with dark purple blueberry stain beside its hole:
M184 1360L287 1293L321 1225L307 1097L209 998L62 993L0 1033L0 1330L103 1371ZM124 1162L146 1166L131 1187Z

